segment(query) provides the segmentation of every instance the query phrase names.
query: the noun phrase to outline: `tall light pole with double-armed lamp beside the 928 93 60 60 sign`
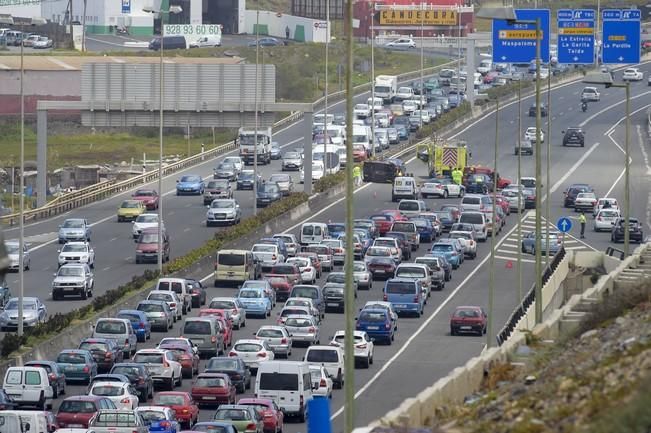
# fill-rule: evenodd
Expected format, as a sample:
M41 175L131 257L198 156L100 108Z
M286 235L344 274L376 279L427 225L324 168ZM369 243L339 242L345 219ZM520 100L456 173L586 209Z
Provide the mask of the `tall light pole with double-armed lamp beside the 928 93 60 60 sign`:
M143 12L159 14L160 16L160 60L158 74L159 94L159 119L158 119L158 273L163 275L163 112L165 99L165 68L163 64L163 51L165 49L165 15L180 14L181 6L170 6L168 10L155 10L143 8Z

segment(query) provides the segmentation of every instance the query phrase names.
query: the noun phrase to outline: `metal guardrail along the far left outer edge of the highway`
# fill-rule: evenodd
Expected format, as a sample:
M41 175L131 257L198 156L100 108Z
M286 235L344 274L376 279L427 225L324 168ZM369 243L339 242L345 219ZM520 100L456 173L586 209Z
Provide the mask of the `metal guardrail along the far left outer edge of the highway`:
M450 66L452 64L456 64L456 60L452 62L447 62L439 66L435 66L432 68L427 68L423 70L424 75L431 75L433 72L435 72L438 69L444 68L446 66ZM415 79L420 77L420 70L418 71L412 71L412 72L407 72L404 74L398 75L398 80L401 82L410 80L410 79ZM368 91L370 89L371 83L365 83L361 84L359 86L355 87L355 93L359 92L364 92ZM343 99L346 95L345 91L338 91L338 92L333 92L330 95L328 95L328 102L336 102L341 99ZM317 109L325 104L325 97L321 97L317 99L313 104L313 111L317 111ZM300 120L303 117L302 112L294 112L290 114L289 116L279 120L278 122L274 123L273 127L274 128L279 128L284 125L294 123L298 120ZM194 166L196 164L199 164L203 162L206 159L214 158L222 153L228 152L230 150L235 149L235 142L229 141L228 143L225 143L221 146L217 146L214 149L210 149L206 152L199 153L193 156L190 156L188 158L182 159L180 161L177 161L173 164L169 164L165 167L163 167L163 176L166 176L168 174L174 173L178 170ZM158 170L151 170L148 171L144 174L138 175L131 177L127 180L121 181L121 182L116 182L116 181L106 181L106 182L100 182L95 185L88 186L86 188L82 188L77 191L73 191L71 193L62 195L60 197L55 198L54 200L50 201L48 204L45 206L42 206L37 209L32 209L24 212L24 218L25 222L27 221L35 221L43 218L50 218L52 216L68 212L71 209L75 209L80 206L85 206L87 204L93 203L98 200L105 199L107 197L110 197L116 193L120 193L123 191L128 191L132 188L137 187L138 185L142 185L148 182L151 182L153 180L158 179ZM160 193L160 192L159 192ZM6 224L6 225L16 225L20 221L20 214L19 213L13 213L9 215L5 215L3 217L0 217L0 223Z

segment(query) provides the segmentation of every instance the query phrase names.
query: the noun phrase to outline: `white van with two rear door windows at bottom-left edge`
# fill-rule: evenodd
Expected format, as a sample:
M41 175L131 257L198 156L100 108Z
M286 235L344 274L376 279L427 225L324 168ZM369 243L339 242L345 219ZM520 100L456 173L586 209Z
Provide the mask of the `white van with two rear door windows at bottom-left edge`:
M9 367L2 389L19 406L36 406L40 410L52 408L54 390L42 367Z

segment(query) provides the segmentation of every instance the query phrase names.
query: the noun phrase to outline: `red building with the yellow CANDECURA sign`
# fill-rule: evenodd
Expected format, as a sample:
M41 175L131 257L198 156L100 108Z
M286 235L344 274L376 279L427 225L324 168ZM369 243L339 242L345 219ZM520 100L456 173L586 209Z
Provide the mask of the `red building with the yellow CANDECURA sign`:
M380 0L357 2L354 18L359 26L355 36L370 38L387 34L433 36L466 36L474 28L474 9L459 0ZM371 26L371 22L373 25Z

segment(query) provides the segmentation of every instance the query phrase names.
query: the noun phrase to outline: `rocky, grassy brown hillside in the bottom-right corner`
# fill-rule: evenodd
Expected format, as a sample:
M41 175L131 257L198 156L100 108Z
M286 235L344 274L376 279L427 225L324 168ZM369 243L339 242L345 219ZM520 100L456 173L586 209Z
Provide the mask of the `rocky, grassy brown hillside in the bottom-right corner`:
M446 433L651 431L651 285L613 295L574 336L532 341L463 406L432 416Z

